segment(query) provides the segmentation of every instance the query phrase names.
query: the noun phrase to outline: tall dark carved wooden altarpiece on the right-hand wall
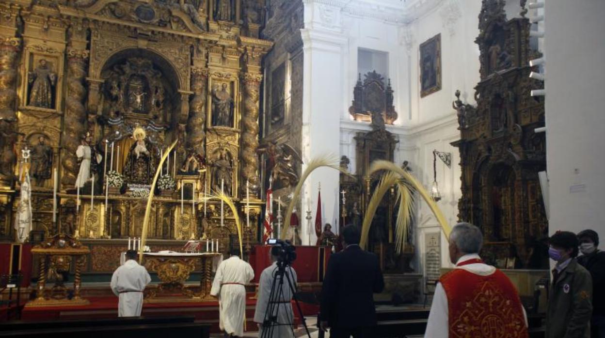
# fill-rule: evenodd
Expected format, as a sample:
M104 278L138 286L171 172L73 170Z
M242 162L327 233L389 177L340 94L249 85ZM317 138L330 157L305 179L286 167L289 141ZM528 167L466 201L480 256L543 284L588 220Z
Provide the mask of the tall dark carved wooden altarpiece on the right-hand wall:
M483 0L479 15L481 81L477 106L458 99L462 197L459 219L479 226L485 235L482 257L500 268L547 268L543 244L548 236L538 172L546 170L545 109L532 89L536 71L527 18L507 20L505 1ZM526 11L526 10L524 10ZM522 11L522 15L525 15ZM548 248L548 247L546 247Z

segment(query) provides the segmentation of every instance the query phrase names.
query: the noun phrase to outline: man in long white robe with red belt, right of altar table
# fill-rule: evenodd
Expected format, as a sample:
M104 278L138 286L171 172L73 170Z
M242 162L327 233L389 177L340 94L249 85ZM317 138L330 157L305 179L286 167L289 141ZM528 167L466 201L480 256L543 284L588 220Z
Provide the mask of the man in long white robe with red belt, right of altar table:
M231 258L218 265L210 291L211 296L218 297L220 329L231 337L244 335L245 285L254 278L254 270L237 256L239 253L239 247L232 248Z

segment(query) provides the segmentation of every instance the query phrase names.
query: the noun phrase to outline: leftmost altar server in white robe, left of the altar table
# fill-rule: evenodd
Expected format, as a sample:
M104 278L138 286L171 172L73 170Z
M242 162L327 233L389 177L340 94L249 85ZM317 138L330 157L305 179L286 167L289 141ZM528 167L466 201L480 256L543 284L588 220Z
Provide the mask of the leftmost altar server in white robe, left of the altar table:
M143 291L151 277L147 269L137 262L137 252L128 250L126 262L111 276L111 291L119 297L117 315L137 317L143 308Z

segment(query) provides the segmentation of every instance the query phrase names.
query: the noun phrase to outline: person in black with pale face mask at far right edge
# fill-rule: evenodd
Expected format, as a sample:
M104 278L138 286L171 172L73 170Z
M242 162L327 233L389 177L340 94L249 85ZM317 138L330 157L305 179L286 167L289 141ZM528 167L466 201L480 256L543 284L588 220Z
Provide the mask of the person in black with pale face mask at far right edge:
M592 276L592 319L590 337L605 338L605 252L598 250L599 235L594 230L578 233L580 252L578 263Z

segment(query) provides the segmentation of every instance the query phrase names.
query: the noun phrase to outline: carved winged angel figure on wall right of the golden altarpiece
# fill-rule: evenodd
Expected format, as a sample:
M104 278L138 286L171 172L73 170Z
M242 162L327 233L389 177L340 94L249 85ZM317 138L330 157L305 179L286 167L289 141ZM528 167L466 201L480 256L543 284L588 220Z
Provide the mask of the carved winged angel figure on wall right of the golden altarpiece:
M278 180L284 184L284 187L293 186L298 183L298 171L296 168L302 164L302 158L287 143L278 145L270 141L257 149L259 154L266 154L269 158L269 167L273 182Z

